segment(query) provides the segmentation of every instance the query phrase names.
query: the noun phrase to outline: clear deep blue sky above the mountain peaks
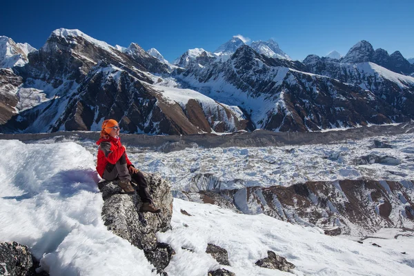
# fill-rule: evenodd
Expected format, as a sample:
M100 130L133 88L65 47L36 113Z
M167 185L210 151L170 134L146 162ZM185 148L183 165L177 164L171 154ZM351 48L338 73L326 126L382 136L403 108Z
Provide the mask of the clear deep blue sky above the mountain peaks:
M13 3L12 3L13 2ZM317 3L313 3L317 2ZM414 57L414 1L7 1L0 35L40 48L52 30L79 29L110 45L157 48L169 61L214 51L233 35L275 39L293 59L342 55L362 39Z

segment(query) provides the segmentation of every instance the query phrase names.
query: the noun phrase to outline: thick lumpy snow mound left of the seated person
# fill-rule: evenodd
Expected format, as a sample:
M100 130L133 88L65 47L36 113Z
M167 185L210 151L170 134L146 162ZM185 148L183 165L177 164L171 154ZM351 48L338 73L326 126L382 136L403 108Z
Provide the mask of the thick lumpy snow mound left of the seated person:
M3 146L0 241L29 246L50 275L151 275L144 253L103 225L89 152L72 142Z

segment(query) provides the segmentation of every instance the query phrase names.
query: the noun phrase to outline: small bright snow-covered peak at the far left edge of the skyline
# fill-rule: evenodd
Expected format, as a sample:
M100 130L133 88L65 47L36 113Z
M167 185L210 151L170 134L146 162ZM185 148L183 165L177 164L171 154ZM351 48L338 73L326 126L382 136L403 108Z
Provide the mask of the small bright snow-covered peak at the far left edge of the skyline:
M13 68L28 63L28 54L36 49L28 43L15 43L12 39L0 36L0 68Z

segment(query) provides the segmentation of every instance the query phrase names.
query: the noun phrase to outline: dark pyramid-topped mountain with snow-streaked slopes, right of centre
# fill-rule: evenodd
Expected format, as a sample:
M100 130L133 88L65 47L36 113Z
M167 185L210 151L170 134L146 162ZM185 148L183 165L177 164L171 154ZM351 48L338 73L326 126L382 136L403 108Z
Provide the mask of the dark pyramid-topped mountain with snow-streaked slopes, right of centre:
M395 91L387 102L382 99L383 94L375 95L351 81L315 72L308 61L271 59L259 55L249 46L242 46L224 63L213 63L208 68L188 68L177 78L191 85L200 83L196 84L198 89L209 89L206 95L217 99L228 99L238 93L239 102L245 99L241 106L250 110L250 119L256 128L266 130L309 131L384 124L411 116L408 106L412 104L414 79L408 79L408 89L403 89L406 91L404 96L400 95L402 89L395 82L384 83L379 79L377 86L383 88L381 91L388 91L390 87ZM228 83L235 89L232 91L228 86L217 86L217 83ZM396 98L400 101L391 106ZM253 110L253 102L260 112ZM399 106L401 103L404 105Z

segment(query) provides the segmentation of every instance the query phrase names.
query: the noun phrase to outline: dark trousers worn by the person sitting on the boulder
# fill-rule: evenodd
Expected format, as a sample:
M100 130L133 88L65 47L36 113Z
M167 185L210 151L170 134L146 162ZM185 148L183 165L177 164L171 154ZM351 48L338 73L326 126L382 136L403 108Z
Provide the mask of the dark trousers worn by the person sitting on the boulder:
M138 171L137 173L130 173L128 167L126 165L126 157L125 154L119 158L117 163L106 165L105 171L103 172L103 179L108 181L112 180L121 180L121 181L133 181L137 184L137 192L139 197L141 197L141 201L143 202L152 202L152 197L150 193L148 193L148 184L144 178L142 172Z

